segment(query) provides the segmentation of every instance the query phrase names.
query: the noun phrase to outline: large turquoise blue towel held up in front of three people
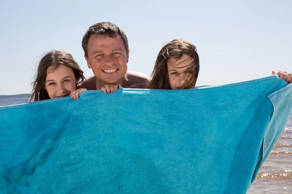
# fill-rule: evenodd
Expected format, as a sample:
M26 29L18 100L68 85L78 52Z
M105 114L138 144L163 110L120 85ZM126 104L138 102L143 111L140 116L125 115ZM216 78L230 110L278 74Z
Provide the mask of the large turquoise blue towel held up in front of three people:
M0 107L0 193L245 194L291 108L277 76Z

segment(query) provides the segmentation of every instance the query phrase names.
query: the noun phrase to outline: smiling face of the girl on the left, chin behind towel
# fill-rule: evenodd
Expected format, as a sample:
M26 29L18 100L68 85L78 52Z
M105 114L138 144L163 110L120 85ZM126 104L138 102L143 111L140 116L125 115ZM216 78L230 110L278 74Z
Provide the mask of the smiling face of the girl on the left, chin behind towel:
M76 79L72 68L65 65L55 65L47 69L45 89L51 99L58 97L68 97L71 91L76 89Z

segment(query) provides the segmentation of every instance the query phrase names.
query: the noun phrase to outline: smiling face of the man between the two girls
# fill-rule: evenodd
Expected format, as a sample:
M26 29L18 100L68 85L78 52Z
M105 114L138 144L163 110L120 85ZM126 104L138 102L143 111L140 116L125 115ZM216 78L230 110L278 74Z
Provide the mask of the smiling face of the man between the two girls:
M87 65L102 85L119 84L127 72L128 54L121 36L92 34L88 40Z

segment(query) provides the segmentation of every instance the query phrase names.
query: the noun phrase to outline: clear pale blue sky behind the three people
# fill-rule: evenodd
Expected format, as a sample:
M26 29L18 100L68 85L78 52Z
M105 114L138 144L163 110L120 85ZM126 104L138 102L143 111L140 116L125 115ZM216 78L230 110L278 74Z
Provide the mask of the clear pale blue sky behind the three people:
M198 49L198 86L292 72L291 8L291 0L3 1L0 95L30 93L37 62L52 49L71 53L92 75L81 40L101 21L126 32L128 70L149 75L164 43L183 38Z

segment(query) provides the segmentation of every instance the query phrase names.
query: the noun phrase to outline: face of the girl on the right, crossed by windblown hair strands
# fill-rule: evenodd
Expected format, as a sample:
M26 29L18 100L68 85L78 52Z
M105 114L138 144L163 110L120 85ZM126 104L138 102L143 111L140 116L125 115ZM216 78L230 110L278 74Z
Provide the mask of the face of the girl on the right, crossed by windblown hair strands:
M179 60L170 59L167 62L168 78L172 90L178 89L185 82L190 81L193 63L194 59L187 54L183 54Z

